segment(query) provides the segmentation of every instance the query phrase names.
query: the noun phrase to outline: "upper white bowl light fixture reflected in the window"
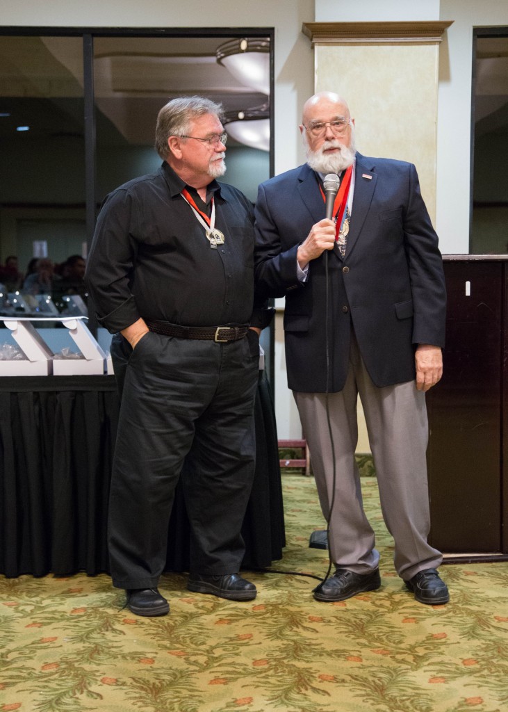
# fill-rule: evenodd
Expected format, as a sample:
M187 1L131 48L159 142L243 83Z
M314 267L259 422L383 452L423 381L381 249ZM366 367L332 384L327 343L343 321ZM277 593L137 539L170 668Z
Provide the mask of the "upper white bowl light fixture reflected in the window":
M254 38L228 40L216 50L216 60L245 86L270 94L270 41Z

